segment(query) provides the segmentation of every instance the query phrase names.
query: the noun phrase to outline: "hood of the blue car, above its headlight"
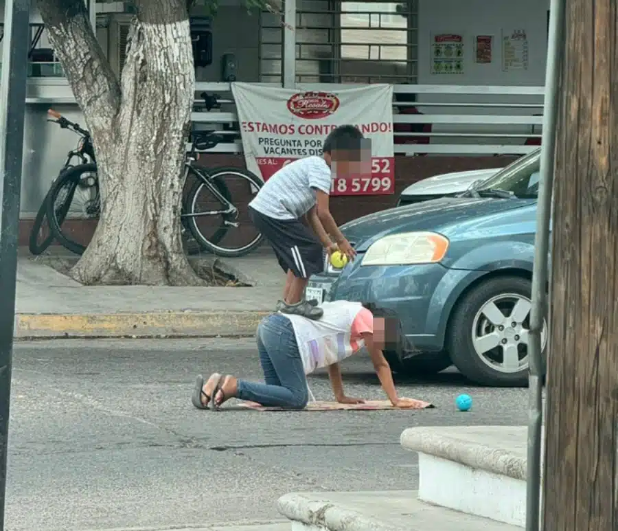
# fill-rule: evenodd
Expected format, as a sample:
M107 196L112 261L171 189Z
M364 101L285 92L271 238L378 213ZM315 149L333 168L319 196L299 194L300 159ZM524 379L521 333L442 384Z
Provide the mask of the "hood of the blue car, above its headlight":
M442 197L424 203L382 210L342 225L341 231L359 252L390 234L436 231L448 236L449 228L474 218L499 218L506 210L524 207L529 199Z

